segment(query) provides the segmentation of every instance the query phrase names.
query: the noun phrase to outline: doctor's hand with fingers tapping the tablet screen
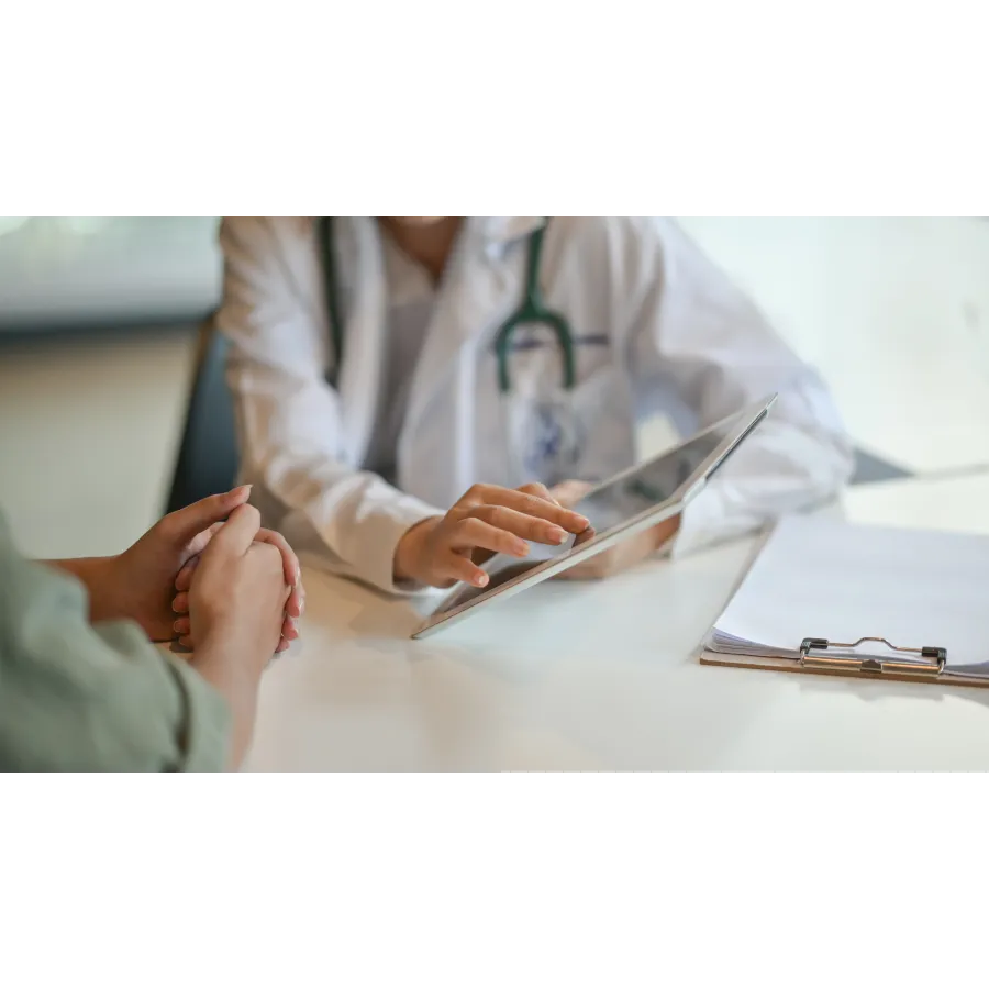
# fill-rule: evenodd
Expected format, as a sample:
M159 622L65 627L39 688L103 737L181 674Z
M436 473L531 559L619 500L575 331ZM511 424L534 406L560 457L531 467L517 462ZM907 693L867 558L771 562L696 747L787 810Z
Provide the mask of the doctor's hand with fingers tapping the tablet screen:
M442 519L427 519L402 536L395 577L429 587L457 581L487 587L480 565L498 553L524 559L529 543L562 546L590 523L549 497L543 485L518 491L476 485Z

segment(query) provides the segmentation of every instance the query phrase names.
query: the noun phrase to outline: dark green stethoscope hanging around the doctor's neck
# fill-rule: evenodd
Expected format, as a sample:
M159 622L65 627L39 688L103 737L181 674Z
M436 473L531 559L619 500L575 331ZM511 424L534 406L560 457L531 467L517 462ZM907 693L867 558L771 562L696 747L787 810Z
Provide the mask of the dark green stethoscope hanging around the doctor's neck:
M551 464L566 475L566 467L579 456L580 430L576 427L569 396L577 384L577 359L574 333L566 316L549 309L540 285L542 269L543 244L553 214L547 213L543 224L529 235L527 258L525 263L525 289L522 303L501 325L494 335L493 349L498 358L498 388L502 397L512 391L511 357L515 349L515 338L523 327L545 326L553 331L563 364L563 387L568 400L560 403L543 403L535 409L532 423L530 454L525 458L524 469L533 476L543 475ZM326 308L330 316L330 333L336 357L336 366L343 364L344 323L340 307L340 282L337 278L336 255L334 248L334 214L324 213L320 221L320 247L323 255L323 270L326 278Z

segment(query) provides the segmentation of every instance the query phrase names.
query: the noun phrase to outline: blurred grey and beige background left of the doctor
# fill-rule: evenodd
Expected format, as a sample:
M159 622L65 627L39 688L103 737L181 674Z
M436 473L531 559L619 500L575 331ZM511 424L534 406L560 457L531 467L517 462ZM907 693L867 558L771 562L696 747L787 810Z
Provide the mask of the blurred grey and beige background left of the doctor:
M0 214L0 505L29 554L115 552L162 511L216 222Z

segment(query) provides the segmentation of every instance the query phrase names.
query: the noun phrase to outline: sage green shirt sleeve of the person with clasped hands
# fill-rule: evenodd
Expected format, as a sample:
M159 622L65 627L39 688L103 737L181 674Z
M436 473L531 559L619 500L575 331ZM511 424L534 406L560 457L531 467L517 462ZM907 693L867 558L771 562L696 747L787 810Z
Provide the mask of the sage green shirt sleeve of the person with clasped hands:
M0 773L220 773L230 712L132 622L15 551L0 515Z

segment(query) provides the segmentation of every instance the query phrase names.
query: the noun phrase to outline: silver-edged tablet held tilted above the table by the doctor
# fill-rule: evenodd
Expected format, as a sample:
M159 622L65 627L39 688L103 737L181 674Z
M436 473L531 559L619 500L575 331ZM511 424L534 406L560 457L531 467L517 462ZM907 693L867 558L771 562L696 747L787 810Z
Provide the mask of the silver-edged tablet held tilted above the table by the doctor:
M521 560L511 556L493 557L484 567L491 578L486 588L466 584L455 587L412 637L427 638L494 599L518 594L591 559L622 540L679 515L774 404L776 396L599 485L574 507L590 520L592 534L571 537L559 547L532 544L530 556Z

